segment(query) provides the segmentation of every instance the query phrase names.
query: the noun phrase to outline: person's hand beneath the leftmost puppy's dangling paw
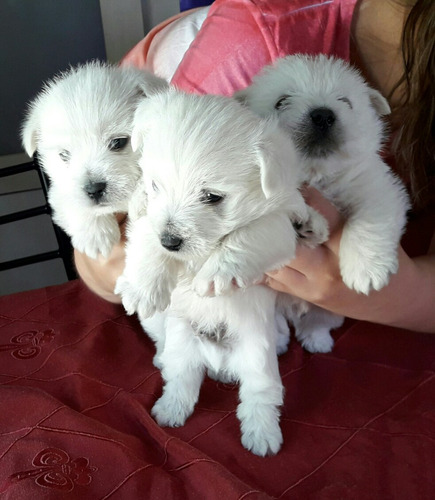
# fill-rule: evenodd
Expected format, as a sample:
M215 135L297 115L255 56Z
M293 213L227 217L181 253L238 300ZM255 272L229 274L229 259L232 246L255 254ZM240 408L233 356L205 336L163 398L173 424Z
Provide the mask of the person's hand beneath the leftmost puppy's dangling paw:
M86 254L74 249L74 262L77 272L83 282L90 290L101 298L113 302L121 303L121 298L115 295L114 289L116 280L122 274L125 266L125 225L127 217L118 217L121 241L117 243L105 258L99 255L96 259L91 259Z

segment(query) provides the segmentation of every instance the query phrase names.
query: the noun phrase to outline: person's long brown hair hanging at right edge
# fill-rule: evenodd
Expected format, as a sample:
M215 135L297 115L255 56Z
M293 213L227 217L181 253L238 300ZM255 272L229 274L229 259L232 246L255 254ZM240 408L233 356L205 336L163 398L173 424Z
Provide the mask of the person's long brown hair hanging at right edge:
M391 93L405 88L392 113L393 153L421 209L435 202L435 0L405 3L413 6L402 33L404 73Z

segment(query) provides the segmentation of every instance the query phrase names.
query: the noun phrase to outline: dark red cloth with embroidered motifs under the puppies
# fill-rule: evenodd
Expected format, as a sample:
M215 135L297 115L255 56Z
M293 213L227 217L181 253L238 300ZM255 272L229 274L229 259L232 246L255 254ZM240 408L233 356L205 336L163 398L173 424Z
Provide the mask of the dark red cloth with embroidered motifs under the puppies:
M206 379L160 428L154 347L80 282L0 300L0 499L435 497L435 336L346 322L332 353L292 340L278 455L240 444L238 390Z

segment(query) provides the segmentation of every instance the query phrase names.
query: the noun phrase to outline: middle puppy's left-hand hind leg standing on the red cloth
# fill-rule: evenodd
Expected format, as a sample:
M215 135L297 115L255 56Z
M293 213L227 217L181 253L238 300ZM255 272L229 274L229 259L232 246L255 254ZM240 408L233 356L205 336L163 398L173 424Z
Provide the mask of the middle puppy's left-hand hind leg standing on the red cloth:
M161 426L179 427L192 414L204 378L198 339L185 319L167 318L166 340L160 355L163 395L151 414Z

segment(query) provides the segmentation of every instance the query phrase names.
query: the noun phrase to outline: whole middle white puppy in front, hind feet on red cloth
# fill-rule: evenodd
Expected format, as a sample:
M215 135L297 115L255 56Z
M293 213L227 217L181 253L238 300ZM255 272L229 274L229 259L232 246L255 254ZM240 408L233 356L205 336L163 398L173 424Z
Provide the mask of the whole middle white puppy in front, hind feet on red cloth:
M298 190L295 149L276 120L175 90L144 100L132 143L145 155L147 206L129 224L116 292L156 341L164 389L152 415L183 425L211 370L240 383L242 444L277 453L276 293L253 283L294 256L293 220L309 221L319 241L328 236Z

